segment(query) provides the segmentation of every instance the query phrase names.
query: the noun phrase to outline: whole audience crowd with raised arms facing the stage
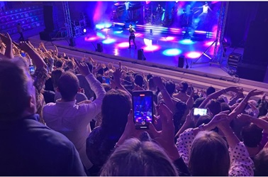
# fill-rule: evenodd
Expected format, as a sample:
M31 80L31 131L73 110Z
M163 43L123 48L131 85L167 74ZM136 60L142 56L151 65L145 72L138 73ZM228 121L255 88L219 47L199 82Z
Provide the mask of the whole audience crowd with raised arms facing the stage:
M268 176L262 90L197 89L0 37L1 176ZM135 90L153 93L148 129L135 128Z

